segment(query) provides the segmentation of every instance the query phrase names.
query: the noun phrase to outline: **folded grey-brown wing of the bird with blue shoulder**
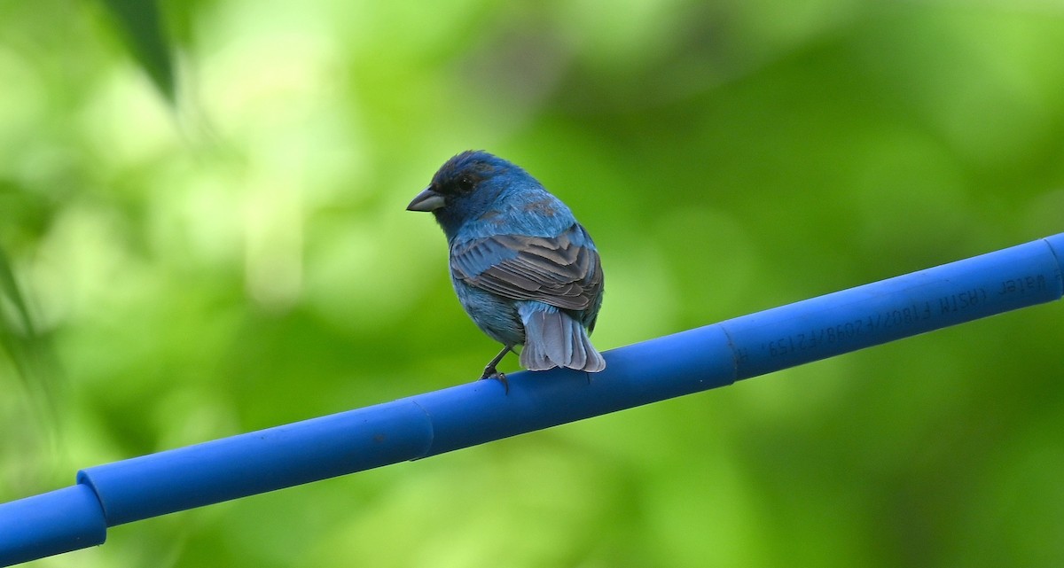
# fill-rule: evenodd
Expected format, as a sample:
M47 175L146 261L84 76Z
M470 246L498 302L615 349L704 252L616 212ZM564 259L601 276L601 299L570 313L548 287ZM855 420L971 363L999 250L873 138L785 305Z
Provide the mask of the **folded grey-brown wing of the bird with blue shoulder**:
M556 237L493 235L456 244L451 270L465 283L513 300L586 310L602 289L602 266L580 224Z

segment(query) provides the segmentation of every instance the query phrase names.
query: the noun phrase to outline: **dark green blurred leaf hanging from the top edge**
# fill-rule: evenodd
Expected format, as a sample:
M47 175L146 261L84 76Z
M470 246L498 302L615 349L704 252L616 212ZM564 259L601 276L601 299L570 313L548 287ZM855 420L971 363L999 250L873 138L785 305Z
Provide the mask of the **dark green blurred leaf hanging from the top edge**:
M174 100L173 59L170 39L163 28L156 0L103 0L122 31L129 49L155 87L171 103Z

